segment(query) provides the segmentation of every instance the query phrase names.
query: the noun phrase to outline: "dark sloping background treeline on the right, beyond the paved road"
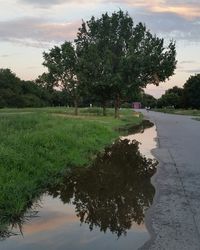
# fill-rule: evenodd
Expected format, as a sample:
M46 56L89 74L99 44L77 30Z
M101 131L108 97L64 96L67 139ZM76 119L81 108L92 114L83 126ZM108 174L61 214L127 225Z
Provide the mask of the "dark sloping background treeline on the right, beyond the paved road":
M200 108L200 74L190 76L183 88L177 86L168 89L157 100L158 108Z

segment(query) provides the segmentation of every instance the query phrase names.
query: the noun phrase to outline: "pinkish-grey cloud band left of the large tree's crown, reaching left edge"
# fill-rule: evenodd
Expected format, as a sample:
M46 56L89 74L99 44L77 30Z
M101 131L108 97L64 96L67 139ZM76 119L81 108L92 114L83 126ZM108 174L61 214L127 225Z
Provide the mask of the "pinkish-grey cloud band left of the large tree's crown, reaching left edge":
M21 18L0 22L0 40L32 47L73 40L81 21L50 22L40 18Z

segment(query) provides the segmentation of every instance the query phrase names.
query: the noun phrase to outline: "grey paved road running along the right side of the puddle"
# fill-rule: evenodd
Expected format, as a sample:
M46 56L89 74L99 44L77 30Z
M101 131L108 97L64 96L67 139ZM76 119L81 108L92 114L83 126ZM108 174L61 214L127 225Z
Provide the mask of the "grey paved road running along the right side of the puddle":
M142 111L156 124L156 195L146 217L152 236L141 249L200 249L200 121Z

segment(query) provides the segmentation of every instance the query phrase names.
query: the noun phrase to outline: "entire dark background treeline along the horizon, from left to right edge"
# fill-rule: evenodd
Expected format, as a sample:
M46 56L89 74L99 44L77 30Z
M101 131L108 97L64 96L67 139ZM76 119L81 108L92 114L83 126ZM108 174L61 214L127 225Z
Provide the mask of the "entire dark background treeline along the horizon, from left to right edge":
M190 76L183 88L173 87L165 91L159 99L146 94L143 90L132 92L121 102L120 106L130 108L133 101L141 102L142 107L151 108L200 108L200 74ZM80 107L101 106L94 96L82 95ZM65 89L49 88L38 78L24 81L10 69L0 69L0 108L24 108L47 106L74 106L72 96ZM114 107L114 102L107 102L107 107Z

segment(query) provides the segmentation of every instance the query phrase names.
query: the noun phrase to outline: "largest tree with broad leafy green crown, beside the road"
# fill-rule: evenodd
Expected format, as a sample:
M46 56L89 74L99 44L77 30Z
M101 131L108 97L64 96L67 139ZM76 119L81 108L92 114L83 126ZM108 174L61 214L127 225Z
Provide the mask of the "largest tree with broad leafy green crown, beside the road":
M117 117L121 99L149 83L158 85L176 68L175 43L153 36L142 23L134 26L123 11L82 23L75 40L81 78L104 105L110 98Z

